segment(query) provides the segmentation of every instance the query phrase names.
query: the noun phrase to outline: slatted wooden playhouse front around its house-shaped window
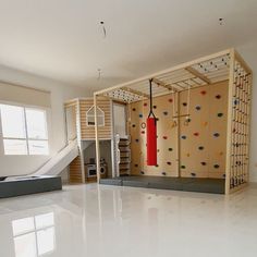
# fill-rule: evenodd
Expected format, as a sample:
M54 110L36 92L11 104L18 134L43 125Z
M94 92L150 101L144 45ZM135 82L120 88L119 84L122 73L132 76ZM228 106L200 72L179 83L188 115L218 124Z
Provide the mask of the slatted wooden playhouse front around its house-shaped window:
M79 100L79 119L82 139L95 138L95 126L88 126L86 123L87 111L94 106L93 99ZM99 139L111 138L111 101L98 100L97 106L105 112L105 126L98 126Z

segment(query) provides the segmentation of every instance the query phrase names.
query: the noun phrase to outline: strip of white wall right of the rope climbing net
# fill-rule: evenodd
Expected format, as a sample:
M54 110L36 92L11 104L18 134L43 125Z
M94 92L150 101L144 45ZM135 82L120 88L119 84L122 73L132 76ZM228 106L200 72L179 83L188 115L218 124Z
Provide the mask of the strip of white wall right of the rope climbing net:
M257 40L236 47L236 50L253 70L249 179L257 182Z

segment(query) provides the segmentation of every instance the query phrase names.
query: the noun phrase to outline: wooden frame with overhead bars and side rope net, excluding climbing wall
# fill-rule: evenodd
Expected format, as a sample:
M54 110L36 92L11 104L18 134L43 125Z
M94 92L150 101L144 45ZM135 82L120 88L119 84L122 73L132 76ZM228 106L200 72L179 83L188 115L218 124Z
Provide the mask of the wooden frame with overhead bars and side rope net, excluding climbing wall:
M94 93L98 97L131 103L147 99L148 81L157 84L152 96L162 96L229 81L225 157L225 194L242 189L248 183L252 69L234 48L189 61L131 82ZM236 106L235 106L236 105ZM97 182L100 182L99 127L95 111ZM179 152L179 151L178 151ZM178 158L180 158L178 154Z

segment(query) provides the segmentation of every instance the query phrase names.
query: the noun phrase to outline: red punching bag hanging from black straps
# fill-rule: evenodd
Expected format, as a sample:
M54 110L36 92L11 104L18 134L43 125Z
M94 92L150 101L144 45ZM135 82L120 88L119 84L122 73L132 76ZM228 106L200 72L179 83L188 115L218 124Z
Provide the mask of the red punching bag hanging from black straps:
M147 166L157 166L157 120L152 112L152 96L150 82L150 112L146 121L147 132Z

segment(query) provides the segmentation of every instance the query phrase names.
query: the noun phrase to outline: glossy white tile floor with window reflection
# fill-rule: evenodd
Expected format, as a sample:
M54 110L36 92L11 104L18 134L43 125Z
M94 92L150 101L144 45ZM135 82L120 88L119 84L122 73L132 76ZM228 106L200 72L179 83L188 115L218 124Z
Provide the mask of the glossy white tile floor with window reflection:
M225 197L118 186L0 200L0 257L256 257L257 187Z

